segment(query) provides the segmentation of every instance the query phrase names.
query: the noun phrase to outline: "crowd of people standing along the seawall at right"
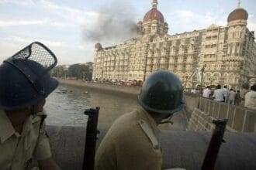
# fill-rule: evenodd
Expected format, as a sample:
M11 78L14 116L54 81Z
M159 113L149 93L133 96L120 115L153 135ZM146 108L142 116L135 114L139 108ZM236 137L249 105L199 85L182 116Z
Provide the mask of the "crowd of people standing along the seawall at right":
M256 83L251 86L250 90L248 89L246 87L241 91L233 88L228 89L226 85L221 88L219 84L215 90L209 86L202 90L202 97L227 104L244 105L244 107L256 110Z

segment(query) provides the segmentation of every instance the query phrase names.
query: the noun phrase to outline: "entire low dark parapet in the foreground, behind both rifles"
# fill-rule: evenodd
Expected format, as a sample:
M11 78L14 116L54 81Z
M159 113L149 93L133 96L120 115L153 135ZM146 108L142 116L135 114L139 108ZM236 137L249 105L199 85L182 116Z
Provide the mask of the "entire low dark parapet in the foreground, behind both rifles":
M53 157L63 170L81 169L85 130L85 127L47 127ZM100 138L105 134L106 131L101 133ZM161 131L163 168L200 169L210 137L211 133L206 131ZM226 143L221 145L216 169L256 169L255 133L226 132L224 139Z

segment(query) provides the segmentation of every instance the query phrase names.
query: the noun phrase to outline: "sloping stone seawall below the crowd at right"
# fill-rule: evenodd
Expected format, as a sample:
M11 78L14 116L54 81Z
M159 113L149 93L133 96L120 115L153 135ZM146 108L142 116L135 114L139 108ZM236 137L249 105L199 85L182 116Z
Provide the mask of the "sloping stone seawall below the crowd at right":
M228 119L229 131L255 132L256 110L248 110L246 107L234 106L200 97L199 107L194 107L189 119L189 130L211 131L213 119Z

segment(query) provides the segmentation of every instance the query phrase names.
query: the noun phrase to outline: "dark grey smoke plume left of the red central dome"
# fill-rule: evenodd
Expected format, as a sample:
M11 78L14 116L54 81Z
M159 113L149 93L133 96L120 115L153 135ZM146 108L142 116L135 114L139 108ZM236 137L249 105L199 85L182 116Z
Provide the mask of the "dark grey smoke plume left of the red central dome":
M83 26L85 41L113 44L137 36L136 10L129 1L102 4L93 26Z

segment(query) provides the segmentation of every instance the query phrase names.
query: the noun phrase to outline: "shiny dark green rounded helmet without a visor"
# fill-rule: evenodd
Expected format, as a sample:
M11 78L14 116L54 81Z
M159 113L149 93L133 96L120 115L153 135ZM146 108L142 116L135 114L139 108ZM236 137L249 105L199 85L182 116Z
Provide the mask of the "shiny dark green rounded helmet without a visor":
M138 103L145 110L159 114L174 114L182 110L182 83L175 73L158 70L148 76L138 96Z

